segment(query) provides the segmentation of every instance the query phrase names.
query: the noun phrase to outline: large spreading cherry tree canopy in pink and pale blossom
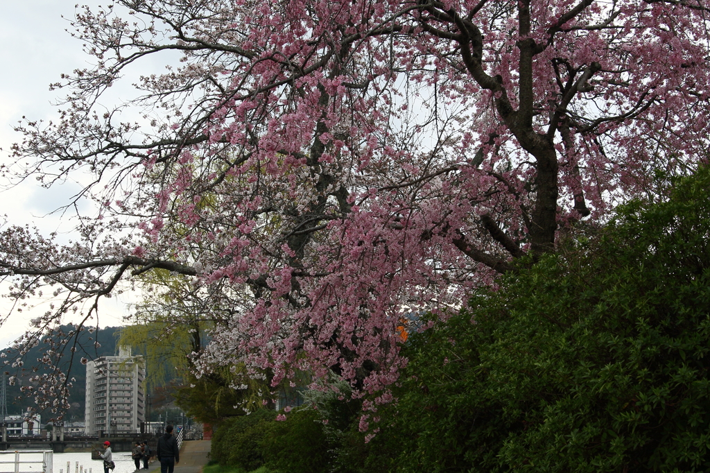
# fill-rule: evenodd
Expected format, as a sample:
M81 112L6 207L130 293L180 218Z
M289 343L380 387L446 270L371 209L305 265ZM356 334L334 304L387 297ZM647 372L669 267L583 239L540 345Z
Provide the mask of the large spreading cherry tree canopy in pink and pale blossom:
M649 192L655 170L706 161L708 14L706 0L83 9L75 35L95 65L55 85L57 121L18 128L7 172L91 175L100 215L63 246L6 226L1 274L17 298L66 295L38 327L72 308L89 320L122 278L191 276L222 320L205 364L246 361L274 382L333 370L377 391L412 314L445 317L515 259ZM163 57L140 98L102 108Z

